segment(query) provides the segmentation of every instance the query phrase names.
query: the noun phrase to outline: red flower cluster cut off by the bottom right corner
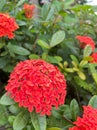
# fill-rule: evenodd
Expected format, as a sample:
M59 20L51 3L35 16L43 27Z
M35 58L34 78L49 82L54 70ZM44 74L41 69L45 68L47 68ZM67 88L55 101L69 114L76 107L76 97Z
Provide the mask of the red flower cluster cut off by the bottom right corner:
M83 106L83 109L83 117L78 117L69 130L97 130L97 109L91 106Z

